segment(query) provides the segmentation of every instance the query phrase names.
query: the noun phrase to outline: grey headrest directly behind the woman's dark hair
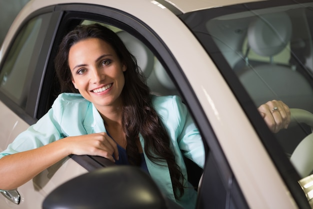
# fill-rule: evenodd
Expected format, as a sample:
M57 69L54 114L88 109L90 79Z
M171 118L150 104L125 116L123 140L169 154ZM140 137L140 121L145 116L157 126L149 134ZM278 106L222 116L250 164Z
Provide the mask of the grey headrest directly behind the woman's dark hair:
M154 55L153 53L135 37L125 31L116 33L122 40L127 50L135 56L137 64L145 77L148 77L153 69Z

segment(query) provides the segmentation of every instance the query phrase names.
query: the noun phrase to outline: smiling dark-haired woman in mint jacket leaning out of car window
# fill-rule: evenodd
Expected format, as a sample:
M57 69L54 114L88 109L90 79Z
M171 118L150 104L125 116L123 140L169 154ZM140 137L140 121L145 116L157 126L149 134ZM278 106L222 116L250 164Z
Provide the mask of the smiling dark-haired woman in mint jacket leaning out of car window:
M2 168L21 158L27 162L0 169L6 174L0 188L19 186L69 154L97 155L139 166L169 199L193 208L197 195L186 180L183 156L203 167L204 147L180 98L150 95L135 58L114 32L98 24L69 32L55 66L62 89L73 93L60 94L46 115L0 153L7 155ZM17 180L8 175L33 163ZM13 184L6 184L11 178Z

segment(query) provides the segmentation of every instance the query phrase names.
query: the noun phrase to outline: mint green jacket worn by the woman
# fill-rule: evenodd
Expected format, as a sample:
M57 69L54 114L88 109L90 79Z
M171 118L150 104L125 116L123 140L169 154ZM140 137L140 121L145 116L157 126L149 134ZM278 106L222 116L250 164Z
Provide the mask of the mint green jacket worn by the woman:
M185 105L178 96L152 96L152 105L161 118L172 141L176 163L187 179L183 155L200 167L204 165L204 148L200 134ZM67 136L106 132L103 120L92 103L80 94L63 93L54 101L52 108L37 123L19 134L0 152L4 155L34 149ZM140 136L143 148L143 138ZM196 192L191 184L185 183L184 195L175 200L167 163L156 165L144 153L150 176L159 186L164 196L176 201L184 208L194 208Z

